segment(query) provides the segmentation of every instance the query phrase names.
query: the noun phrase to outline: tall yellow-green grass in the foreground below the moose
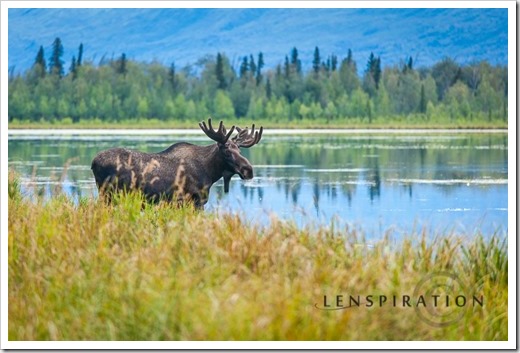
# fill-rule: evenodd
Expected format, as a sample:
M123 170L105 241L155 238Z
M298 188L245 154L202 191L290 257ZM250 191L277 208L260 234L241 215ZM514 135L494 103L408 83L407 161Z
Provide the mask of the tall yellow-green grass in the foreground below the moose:
M10 340L507 339L507 244L495 237L368 244L138 195L28 200L14 176L8 237ZM484 305L441 327L402 306L315 307L324 295L411 294L440 271Z

